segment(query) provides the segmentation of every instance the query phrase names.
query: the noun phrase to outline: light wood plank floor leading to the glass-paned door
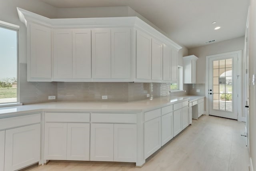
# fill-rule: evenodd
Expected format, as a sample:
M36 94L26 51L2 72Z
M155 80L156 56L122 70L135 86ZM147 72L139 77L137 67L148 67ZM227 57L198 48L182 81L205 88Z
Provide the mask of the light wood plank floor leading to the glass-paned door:
M248 171L244 131L245 123L203 115L147 159L142 168L134 163L50 161L26 171Z

